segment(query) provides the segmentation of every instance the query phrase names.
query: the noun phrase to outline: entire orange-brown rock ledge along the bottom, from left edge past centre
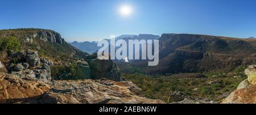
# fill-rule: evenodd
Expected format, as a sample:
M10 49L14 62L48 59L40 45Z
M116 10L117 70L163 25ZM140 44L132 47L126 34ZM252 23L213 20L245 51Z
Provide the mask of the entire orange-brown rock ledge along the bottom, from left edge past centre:
M0 103L29 104L159 104L161 100L139 96L141 89L131 82L100 80L53 80L20 78L0 73Z

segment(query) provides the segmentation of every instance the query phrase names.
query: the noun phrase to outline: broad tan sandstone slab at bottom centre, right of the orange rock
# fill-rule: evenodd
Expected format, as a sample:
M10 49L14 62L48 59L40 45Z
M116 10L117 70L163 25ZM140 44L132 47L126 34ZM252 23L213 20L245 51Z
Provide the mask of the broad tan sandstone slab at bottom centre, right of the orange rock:
M52 90L44 93L42 98L38 101L39 103L46 104L164 103L160 100L152 100L135 95L127 88L126 83L113 83L113 86L106 86L89 79L68 81L57 80L54 81Z

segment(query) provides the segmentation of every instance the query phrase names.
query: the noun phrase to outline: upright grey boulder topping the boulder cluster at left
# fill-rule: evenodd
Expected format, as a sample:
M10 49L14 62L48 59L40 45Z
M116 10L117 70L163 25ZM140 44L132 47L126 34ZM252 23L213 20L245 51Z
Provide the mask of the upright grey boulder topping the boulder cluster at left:
M38 57L38 51L28 50L26 56L26 62L31 66L35 67L40 64L40 58Z

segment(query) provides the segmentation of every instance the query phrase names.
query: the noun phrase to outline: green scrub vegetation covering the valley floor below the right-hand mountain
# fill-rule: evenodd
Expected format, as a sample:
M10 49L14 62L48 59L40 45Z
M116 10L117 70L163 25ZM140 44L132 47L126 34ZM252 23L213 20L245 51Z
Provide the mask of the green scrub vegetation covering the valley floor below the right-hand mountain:
M200 97L220 101L236 90L238 84L246 79L243 69L235 71L238 73L190 73L158 78L144 74L123 74L123 77L142 88L142 96L151 99L167 102L170 93L181 91L195 99Z

